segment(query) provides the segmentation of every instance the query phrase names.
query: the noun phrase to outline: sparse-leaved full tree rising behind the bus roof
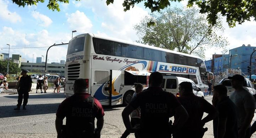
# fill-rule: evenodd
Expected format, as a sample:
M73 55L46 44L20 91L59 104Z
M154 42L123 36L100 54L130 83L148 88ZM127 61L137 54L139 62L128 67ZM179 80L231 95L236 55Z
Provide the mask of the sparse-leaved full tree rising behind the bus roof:
M148 25L148 22L154 22L154 25ZM216 34L223 31L221 21L209 25L206 17L195 8L167 8L159 14L144 17L134 29L140 39L138 42L202 58L207 48L225 48L228 44L224 37Z

